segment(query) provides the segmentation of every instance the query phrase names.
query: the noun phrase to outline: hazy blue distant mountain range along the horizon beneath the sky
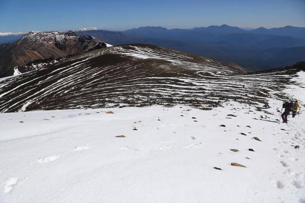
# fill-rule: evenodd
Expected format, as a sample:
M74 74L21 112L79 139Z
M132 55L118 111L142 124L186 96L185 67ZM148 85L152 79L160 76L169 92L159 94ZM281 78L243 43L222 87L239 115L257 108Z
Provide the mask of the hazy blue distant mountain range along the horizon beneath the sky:
M139 27L122 32L75 29L112 45L152 44L177 49L199 56L234 62L248 70L278 68L305 60L305 27L241 29L228 25L195 27L192 29L167 29L164 27ZM5 38L11 37L11 38ZM17 35L0 36L13 42ZM20 37L20 36L19 36Z

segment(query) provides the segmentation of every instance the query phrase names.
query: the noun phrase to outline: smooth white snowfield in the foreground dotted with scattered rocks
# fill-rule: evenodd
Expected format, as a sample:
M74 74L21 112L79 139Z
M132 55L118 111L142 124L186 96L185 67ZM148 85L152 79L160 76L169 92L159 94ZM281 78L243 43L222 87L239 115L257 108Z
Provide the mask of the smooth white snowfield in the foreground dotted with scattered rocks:
M0 201L304 203L304 113L269 105L2 113Z

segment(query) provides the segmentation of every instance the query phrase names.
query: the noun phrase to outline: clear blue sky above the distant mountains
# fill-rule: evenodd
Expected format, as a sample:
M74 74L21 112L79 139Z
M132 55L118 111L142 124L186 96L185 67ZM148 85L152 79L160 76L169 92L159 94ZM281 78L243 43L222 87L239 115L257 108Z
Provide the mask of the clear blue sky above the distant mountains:
M0 0L0 32L305 27L305 0Z

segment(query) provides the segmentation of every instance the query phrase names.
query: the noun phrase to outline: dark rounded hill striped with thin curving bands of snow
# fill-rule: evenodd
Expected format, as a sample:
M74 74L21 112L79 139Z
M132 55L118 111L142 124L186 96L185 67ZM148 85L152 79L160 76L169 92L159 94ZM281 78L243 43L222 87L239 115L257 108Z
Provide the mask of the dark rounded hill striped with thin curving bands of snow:
M248 73L223 63L152 45L113 46L67 57L0 81L0 112L109 107L116 103L210 104L236 99L268 103L295 83L296 68ZM243 87L244 86L244 87Z

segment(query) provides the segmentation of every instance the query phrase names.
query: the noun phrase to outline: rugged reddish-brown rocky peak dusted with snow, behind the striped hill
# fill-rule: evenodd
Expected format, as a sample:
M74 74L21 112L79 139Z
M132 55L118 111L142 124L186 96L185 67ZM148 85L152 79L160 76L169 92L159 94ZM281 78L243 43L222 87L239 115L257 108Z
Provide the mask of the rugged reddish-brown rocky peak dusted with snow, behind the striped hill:
M94 49L103 41L76 33L27 33L13 44L0 46L0 77L13 75L15 66L34 60L65 57Z

